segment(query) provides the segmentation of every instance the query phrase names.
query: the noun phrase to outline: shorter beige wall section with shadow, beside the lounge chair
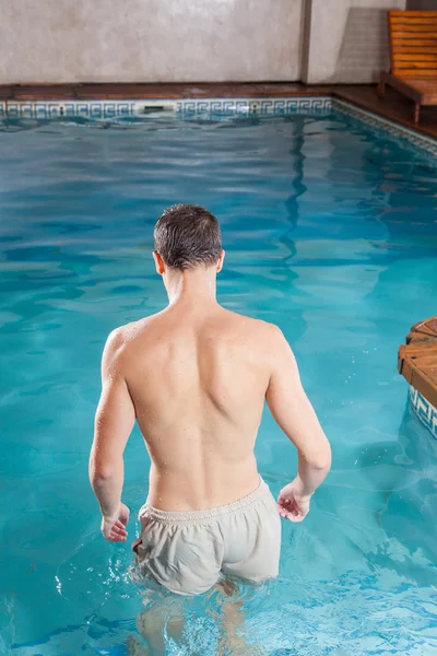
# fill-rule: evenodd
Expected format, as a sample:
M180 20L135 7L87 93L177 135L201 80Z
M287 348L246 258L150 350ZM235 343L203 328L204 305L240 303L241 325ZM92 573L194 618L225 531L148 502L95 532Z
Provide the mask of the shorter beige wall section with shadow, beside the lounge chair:
M389 66L388 9L405 0L306 0L303 81L376 82Z

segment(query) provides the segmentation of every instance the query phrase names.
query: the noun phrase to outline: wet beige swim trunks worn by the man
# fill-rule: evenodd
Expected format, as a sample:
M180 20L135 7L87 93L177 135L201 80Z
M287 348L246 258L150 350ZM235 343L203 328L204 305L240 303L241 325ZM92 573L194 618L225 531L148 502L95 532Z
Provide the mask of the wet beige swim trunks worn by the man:
M261 582L277 575L281 519L269 487L226 506L168 513L141 508L141 536L132 546L143 577L173 593L199 595L221 573Z

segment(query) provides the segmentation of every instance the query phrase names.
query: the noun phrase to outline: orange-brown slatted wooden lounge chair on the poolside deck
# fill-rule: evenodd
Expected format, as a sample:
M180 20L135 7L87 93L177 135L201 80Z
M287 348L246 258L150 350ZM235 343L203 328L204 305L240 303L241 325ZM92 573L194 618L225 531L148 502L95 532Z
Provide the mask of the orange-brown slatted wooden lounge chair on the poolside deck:
M379 95L390 84L415 103L437 105L437 11L389 11L391 71L381 71Z

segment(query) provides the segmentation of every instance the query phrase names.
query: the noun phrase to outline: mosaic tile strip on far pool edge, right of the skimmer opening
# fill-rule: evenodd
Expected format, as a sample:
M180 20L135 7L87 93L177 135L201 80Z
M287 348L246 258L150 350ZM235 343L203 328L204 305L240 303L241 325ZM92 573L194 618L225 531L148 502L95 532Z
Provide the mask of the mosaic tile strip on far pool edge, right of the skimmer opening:
M180 99L176 112L181 116L197 114L260 114L265 115L328 115L331 97L276 97L276 98L204 98Z

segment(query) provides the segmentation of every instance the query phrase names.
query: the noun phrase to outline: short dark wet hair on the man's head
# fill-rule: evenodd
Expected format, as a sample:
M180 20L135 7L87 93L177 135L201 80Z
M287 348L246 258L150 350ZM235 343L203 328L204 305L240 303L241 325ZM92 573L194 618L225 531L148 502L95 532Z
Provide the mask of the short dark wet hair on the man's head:
M222 235L214 214L200 206L172 206L160 216L154 232L155 250L167 267L185 271L218 260Z

